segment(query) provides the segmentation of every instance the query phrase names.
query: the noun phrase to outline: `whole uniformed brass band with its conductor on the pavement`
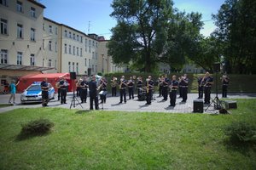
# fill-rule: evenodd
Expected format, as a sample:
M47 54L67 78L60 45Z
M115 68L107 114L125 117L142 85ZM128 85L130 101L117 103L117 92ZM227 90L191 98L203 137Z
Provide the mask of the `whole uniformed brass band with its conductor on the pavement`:
M90 109L93 109L93 102L95 102L96 110L98 109L98 94L100 94L101 103L106 103L107 99L107 85L108 82L105 77L102 77L100 82L96 82L96 77L92 76L90 82L87 81L88 77L84 79L79 79L76 82L79 92L77 96L80 96L81 102L86 103L88 89L90 91ZM137 82L136 82L137 80ZM229 77L224 75L222 78L223 84L223 98L227 97L227 87L230 82ZM182 77L172 76L171 79L167 75L159 77L156 82L152 80L151 76L146 78L143 82L142 77L130 77L129 80L125 80L125 76L120 77L119 81L117 77L112 77L111 79L111 91L112 96L116 96L117 88L119 87L119 104L126 103L126 88L128 88L129 99L134 99L135 85L137 84L137 98L139 100L146 100L145 105L151 105L151 100L153 99L154 87L159 87L159 97L163 97L162 101L166 101L169 95L170 105L174 107L176 105L177 90L179 91L179 98L182 98L182 103L186 103L188 99L188 88L189 88L189 78L187 74ZM203 77L198 77L198 99L203 99L203 94L205 94L204 104L210 104L211 88L213 84L213 77L207 72ZM67 86L68 83L64 78L61 78L56 84L58 88L58 100L61 99L61 104L66 104L67 96ZM79 95L78 95L79 94Z

